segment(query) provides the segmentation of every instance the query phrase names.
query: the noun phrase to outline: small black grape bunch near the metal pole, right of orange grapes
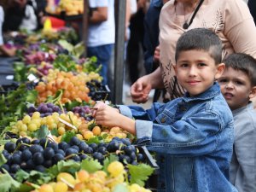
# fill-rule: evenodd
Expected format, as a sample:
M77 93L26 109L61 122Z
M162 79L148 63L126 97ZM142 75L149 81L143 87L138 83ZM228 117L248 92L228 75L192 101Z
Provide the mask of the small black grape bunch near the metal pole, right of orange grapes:
M86 86L90 90L88 95L94 101L104 100L105 97L108 97L109 95L109 90L106 90L106 87L96 79L92 79L90 82L87 82Z

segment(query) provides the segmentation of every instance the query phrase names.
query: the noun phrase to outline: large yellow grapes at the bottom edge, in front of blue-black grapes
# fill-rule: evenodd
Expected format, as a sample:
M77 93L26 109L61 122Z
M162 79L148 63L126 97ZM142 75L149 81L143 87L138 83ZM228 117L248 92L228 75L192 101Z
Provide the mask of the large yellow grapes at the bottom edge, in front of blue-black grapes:
M110 192L115 186L123 184L129 192L150 192L138 184L129 185L125 182L127 172L125 167L119 161L113 161L108 165L108 172L96 171L89 173L85 170L80 170L75 173L75 177L68 172L61 172L56 177L56 181L45 183L34 189L31 192Z

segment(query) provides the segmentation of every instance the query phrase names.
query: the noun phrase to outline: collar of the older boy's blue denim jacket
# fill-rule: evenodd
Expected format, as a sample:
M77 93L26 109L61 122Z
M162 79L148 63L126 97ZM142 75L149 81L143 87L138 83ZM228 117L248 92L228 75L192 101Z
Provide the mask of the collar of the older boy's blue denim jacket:
M184 102L193 102L197 100L209 100L212 99L214 96L217 96L220 93L220 87L217 82L214 82L212 86L204 91L203 93L197 95L197 96L189 96L189 92L186 92L185 95L183 96L183 101Z

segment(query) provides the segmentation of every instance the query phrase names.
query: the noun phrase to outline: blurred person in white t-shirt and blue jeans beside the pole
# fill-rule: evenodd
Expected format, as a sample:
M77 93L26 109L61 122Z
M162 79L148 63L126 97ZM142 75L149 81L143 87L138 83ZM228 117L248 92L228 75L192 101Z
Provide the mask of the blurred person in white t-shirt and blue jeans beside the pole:
M102 65L102 84L108 84L108 67L115 40L114 0L89 0L89 4L87 56L96 56L98 65Z

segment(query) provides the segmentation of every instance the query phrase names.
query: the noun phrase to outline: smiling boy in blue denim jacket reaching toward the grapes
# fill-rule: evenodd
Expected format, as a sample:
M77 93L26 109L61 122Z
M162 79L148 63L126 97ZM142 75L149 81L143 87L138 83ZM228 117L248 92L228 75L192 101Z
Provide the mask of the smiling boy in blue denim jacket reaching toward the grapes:
M152 108L99 102L98 125L119 126L157 153L158 192L231 192L233 118L220 92L224 71L221 41L207 29L192 29L177 41L177 80L187 90L180 98ZM133 119L134 118L134 119Z

